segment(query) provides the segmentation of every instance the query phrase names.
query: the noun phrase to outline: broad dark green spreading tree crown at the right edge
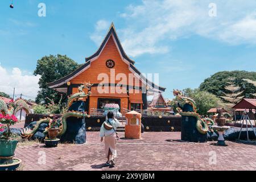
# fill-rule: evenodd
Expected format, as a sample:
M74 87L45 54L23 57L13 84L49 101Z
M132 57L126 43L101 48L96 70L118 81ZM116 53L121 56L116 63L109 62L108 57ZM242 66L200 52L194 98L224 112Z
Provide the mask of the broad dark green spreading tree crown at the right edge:
M244 90L240 96L250 98L251 93L255 93L256 88L243 79L256 80L256 72L246 71L217 72L205 79L199 88L201 91L207 91L218 97L225 96L226 86L230 85L230 78L234 78L233 84L239 86L241 88L240 91Z

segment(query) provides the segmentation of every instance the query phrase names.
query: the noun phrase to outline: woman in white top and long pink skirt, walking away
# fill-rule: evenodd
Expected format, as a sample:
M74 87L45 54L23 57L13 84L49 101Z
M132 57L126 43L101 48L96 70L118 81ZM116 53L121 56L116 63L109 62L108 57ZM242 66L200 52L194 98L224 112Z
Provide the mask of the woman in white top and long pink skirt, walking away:
M105 142L105 155L108 158L106 165L110 167L114 167L114 158L117 156L117 150L115 148L115 143L118 140L118 136L116 133L117 127L120 125L120 122L114 118L114 113L110 111L108 113L107 120L102 124L100 137L101 142Z

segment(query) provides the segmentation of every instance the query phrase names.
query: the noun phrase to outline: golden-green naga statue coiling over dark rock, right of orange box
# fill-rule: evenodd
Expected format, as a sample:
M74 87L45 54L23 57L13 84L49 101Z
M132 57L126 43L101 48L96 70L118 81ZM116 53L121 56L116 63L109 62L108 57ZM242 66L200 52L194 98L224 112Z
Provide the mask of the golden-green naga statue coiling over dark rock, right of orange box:
M180 90L174 90L174 96L176 96L176 99L180 102L183 102L184 104L187 104L189 109L183 108L181 109L180 105L177 107L177 111L181 116L185 117L195 117L197 119L196 122L196 129L201 134L207 134L209 126L214 125L214 122L212 119L206 118L201 119L200 115L197 113L196 103L189 97L183 96L183 93Z

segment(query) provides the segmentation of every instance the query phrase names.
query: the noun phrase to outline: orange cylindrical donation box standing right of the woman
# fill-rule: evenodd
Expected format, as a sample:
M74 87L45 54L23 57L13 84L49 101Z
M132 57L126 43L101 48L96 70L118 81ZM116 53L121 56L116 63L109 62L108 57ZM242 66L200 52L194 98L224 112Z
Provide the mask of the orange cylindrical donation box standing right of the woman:
M140 139L141 138L141 114L136 111L130 111L125 114L125 138Z

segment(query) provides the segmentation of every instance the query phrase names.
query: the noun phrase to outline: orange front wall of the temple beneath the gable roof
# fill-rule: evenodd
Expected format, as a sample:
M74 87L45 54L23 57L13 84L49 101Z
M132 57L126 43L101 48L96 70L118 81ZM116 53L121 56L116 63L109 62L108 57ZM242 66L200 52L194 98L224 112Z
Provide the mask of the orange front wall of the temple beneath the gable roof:
M115 67L114 68L108 68L106 67L106 60L114 60ZM102 80L98 80L98 75L100 73L106 73L109 76L109 80L106 83L110 84L118 84L120 80L115 80L114 82L111 82L110 80L110 69L114 69L115 76L118 73L124 73L127 78L129 78L129 73L132 73L129 70L129 66L122 60L117 47L115 46L114 40L112 36L109 38L108 42L106 43L106 46L101 52L101 55L98 57L98 59L94 60L90 68L86 69L84 72L82 72L80 75L74 77L70 82L71 84L81 84L84 82L90 82L92 84L100 84ZM112 76L113 77L113 76ZM134 85L132 86L142 86L142 82L134 82ZM93 87L91 92L92 95L90 96L89 100L89 111L90 109L97 109L98 108L98 99L99 98L117 98L121 100L121 108L125 109L131 109L131 104L141 104L142 109L142 93L135 93L135 90L129 90L129 96L128 94L121 93L122 88L119 87L110 87L109 89L114 89L115 93L98 93L97 87ZM126 88L125 88L126 90ZM87 92L87 90L84 90ZM110 90L109 90L110 91ZM78 92L77 88L73 88L71 94L75 94ZM138 90L137 90L138 92Z

